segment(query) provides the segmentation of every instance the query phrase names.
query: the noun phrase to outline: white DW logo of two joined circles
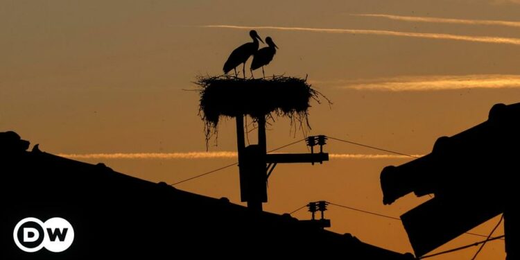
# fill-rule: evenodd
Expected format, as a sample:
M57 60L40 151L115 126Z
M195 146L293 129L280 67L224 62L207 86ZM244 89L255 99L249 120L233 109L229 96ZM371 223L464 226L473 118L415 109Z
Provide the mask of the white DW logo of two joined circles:
M12 232L15 243L25 252L36 252L46 248L51 252L67 250L74 240L74 229L63 218L49 218L42 222L37 218L24 218Z

